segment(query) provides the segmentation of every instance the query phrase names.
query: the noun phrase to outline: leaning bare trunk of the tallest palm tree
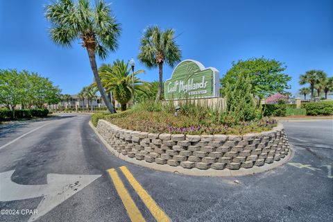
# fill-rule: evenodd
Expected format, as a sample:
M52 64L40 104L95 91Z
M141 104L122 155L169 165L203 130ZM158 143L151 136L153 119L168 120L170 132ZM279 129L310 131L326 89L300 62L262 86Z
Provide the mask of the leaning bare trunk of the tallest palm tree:
M108 96L106 96L105 90L104 90L103 85L101 83L101 78L99 77L99 72L97 71L95 50L90 49L89 47L87 47L87 52L88 52L88 55L89 55L90 66L92 67L92 72L94 73L94 78L95 78L95 81L97 83L97 87L99 87L99 92L101 93L103 101L105 102L105 105L108 108L108 110L111 113L114 113L115 112L114 106L108 100Z

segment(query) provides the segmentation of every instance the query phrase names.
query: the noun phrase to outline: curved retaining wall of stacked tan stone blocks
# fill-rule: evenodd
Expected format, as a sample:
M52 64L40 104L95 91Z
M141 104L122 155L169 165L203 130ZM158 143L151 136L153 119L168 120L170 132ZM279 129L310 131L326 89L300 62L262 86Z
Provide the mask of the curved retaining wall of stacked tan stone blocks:
M280 123L270 131L246 135L182 135L126 130L100 119L97 131L119 155L186 169L260 167L289 153Z

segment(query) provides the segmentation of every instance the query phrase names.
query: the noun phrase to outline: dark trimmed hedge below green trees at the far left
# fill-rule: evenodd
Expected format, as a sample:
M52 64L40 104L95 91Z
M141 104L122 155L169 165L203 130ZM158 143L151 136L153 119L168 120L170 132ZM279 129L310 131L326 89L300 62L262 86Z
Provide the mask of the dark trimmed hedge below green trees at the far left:
M33 110L14 110L14 116L12 110L2 109L0 110L0 121L23 119L31 117L47 117L49 110L46 109L33 109Z

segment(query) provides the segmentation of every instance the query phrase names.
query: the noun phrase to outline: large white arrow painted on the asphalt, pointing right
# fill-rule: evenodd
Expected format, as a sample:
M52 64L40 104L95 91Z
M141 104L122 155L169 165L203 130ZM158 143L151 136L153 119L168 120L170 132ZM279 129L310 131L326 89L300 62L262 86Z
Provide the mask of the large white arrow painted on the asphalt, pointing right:
M46 176L46 185L19 185L10 179L12 173L14 171L0 173L0 201L44 196L37 207L38 214L32 215L28 222L43 216L101 176L49 173Z

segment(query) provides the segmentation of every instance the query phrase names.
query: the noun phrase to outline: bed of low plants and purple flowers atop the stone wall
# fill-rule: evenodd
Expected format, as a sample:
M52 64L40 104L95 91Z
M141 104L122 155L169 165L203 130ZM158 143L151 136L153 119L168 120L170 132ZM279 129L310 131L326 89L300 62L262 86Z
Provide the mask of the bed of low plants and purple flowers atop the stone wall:
M144 131L148 133L183 133L186 135L213 135L245 133L259 133L271 130L277 125L275 119L264 118L255 121L242 121L237 124L223 124L212 121L211 116L194 119L187 115L174 117L167 112L127 111L119 114L94 114L92 122L96 126L99 119L105 119L128 130Z

